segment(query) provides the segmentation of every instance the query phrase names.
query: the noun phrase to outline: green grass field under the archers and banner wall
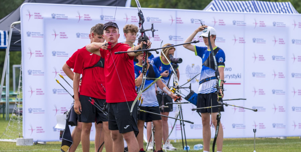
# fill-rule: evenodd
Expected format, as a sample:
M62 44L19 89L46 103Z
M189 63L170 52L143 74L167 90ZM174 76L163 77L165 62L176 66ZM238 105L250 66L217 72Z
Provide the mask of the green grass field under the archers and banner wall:
M5 131L8 121L0 118L0 134ZM212 145L213 139L211 140ZM223 145L223 152L253 152L254 150L253 138L225 138ZM178 148L174 152L182 150L182 141L174 143L174 147ZM203 144L202 139L188 139L188 145L191 150L195 144ZM60 142L47 142L46 145L37 144L33 146L16 146L15 142L0 142L0 152L14 152L14 151L60 151ZM145 148L145 147L144 147ZM216 148L215 148L216 149ZM211 150L211 149L210 149ZM82 151L81 144L76 151ZM104 150L103 150L104 151ZM200 150L199 150L200 151ZM288 137L287 139L276 138L256 138L256 152L301 152L301 139L299 137ZM90 152L94 152L94 141L91 141Z

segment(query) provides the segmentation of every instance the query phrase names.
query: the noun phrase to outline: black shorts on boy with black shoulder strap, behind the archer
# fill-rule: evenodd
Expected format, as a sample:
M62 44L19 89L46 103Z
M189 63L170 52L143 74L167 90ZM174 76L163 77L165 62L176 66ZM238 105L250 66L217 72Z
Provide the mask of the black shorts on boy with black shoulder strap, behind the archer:
M97 103L99 106L101 106L101 108L104 107L104 102L106 102L105 99L97 99L97 98L93 98L93 97L91 97L91 98L94 99L95 103ZM79 101L80 101L80 104L82 105L82 111L81 111L82 114L78 115L78 121L85 122L85 123L107 122L108 121L107 116L104 115L104 113L101 112L99 109L97 109L94 105L92 105L89 102L89 100L91 100L90 97L80 95Z

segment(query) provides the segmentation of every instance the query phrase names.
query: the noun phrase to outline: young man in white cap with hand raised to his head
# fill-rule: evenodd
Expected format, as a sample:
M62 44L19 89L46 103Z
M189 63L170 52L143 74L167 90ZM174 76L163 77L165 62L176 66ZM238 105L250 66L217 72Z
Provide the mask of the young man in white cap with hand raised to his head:
M208 37L208 33L210 31L210 36ZM209 48L210 39L216 62L218 65L220 80L222 85L224 83L224 68L225 68L225 52L215 45L216 40L216 30L213 27L209 27L206 25L202 25L198 27L186 40L186 42L191 42L193 38L197 35L197 33L202 32L200 37L203 37L204 43L207 47L194 46L191 44L183 45L186 49L189 49L195 53L195 55L200 56L202 58L202 71L200 75L199 81L199 90L197 95L197 107L208 107L208 106L217 106L217 94L215 93L217 90L214 88L216 85L216 75L215 75L215 65L213 60L209 60L208 57L210 55L210 59L213 59L211 50ZM221 91L222 92L222 91ZM224 95L222 94L222 97ZM222 107L221 111L224 111L224 107ZM203 145L204 152L209 152L210 147L210 114L212 115L212 123L216 128L216 115L218 114L218 107L209 108L209 109L198 109L197 112L202 113L202 124L203 124ZM220 123L220 126L221 123ZM222 151L223 144L223 128L219 128L219 134L217 137L217 152Z

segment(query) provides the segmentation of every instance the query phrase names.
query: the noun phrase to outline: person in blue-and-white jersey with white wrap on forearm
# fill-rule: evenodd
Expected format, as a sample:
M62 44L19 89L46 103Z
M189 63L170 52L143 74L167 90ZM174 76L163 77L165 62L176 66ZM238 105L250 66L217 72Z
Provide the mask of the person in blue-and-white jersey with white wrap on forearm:
M151 53L148 53L148 54L151 55ZM143 54L141 53L140 55L136 56L136 58L139 61L137 64L134 65L135 85L137 88L137 87L141 86L141 83L142 83L141 71L142 71ZM145 60L147 61L147 59L145 59ZM156 66L150 65L148 62L147 62L147 68L148 68L148 70L146 72L146 80L145 80L144 88L147 88L150 85L151 86L141 94L141 96L143 98L143 102L138 103L138 108L140 108L141 110L160 114L159 104L158 104L157 97L156 97L155 84L152 84L152 82L154 82L155 79L160 79L162 76L159 74ZM158 87L160 89L162 89L166 94L168 94L169 97L171 97L173 99L177 98L177 96L175 94L173 94L161 80L158 80L156 82L156 84L158 85ZM156 131L154 134L155 141L157 143L156 151L163 152L162 148L161 148L162 133L163 133L161 116L149 114L149 113L145 113L145 112L140 112L138 114L139 134L137 136L137 141L138 141L138 145L139 145L139 149L140 149L139 152L145 152L143 149L144 122L151 122L151 121L153 122L154 127L156 128Z

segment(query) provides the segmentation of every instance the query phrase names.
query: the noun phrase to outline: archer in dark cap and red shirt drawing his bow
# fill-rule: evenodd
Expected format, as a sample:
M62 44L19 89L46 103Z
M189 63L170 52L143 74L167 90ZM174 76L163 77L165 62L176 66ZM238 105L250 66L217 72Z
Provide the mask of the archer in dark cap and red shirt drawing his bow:
M129 148L129 152L137 152L138 142L135 133L137 127L137 103L134 105L132 116L130 107L132 106L137 93L135 90L134 78L134 56L141 52L128 52L114 54L118 51L134 51L142 48L143 44L147 48L151 47L151 42L141 43L139 46L130 47L127 44L118 43L119 29L116 23L108 22L104 24L104 39L106 43L91 43L86 49L105 59L104 75L106 80L106 98L108 103L109 129L113 139L113 151L123 151L123 138ZM113 43L118 43L111 45ZM106 45L105 45L106 44ZM135 133L134 133L135 131ZM121 133L121 134L119 134Z

